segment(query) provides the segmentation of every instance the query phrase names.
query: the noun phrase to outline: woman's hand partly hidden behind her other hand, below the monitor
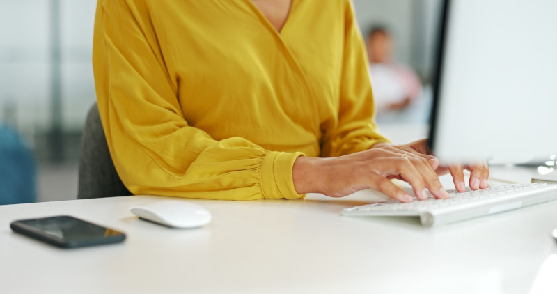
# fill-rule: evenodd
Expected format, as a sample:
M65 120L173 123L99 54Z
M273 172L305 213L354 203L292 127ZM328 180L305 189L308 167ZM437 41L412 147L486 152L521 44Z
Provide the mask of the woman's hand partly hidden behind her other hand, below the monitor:
M453 182L458 192L464 192L466 190L466 186L464 185L464 169L470 171L469 186L471 189L477 190L489 187L489 183L487 182L487 178L489 178L489 167L485 161L477 164L453 164L448 167L441 166L437 157L434 157L430 148L427 147L427 139L395 147L410 153L417 153L425 157L430 157L427 161L431 164L438 176L446 173L450 173L451 176L453 176Z

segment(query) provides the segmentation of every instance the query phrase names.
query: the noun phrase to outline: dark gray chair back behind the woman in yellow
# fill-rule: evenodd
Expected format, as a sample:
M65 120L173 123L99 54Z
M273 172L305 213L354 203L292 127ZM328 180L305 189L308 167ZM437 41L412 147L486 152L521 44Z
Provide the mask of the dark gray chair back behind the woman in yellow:
M116 172L95 103L87 115L81 139L77 199L127 195L132 193L126 189Z

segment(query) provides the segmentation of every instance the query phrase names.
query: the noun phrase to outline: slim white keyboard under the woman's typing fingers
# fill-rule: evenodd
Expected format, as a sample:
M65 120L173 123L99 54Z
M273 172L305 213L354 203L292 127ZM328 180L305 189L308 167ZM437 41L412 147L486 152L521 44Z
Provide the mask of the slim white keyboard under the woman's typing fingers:
M513 184L492 186L483 190L459 193L447 191L450 198L429 199L400 203L387 201L345 208L340 213L350 216L414 216L423 226L437 226L463 219L492 215L524 206L557 199L557 185Z

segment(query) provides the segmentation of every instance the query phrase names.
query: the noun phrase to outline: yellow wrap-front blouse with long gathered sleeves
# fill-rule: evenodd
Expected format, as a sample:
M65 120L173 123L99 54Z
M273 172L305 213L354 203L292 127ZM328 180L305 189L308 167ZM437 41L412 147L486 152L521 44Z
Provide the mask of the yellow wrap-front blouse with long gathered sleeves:
M134 194L297 199L292 165L386 141L350 0L99 0L95 86Z

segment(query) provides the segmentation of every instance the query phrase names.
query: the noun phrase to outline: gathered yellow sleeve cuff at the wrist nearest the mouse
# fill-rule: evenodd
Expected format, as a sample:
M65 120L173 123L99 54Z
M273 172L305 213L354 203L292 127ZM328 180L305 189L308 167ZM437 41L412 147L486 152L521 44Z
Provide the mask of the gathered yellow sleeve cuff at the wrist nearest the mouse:
M297 157L304 153L271 151L263 158L261 166L261 192L265 199L300 199L306 194L298 194L294 189L292 167Z

